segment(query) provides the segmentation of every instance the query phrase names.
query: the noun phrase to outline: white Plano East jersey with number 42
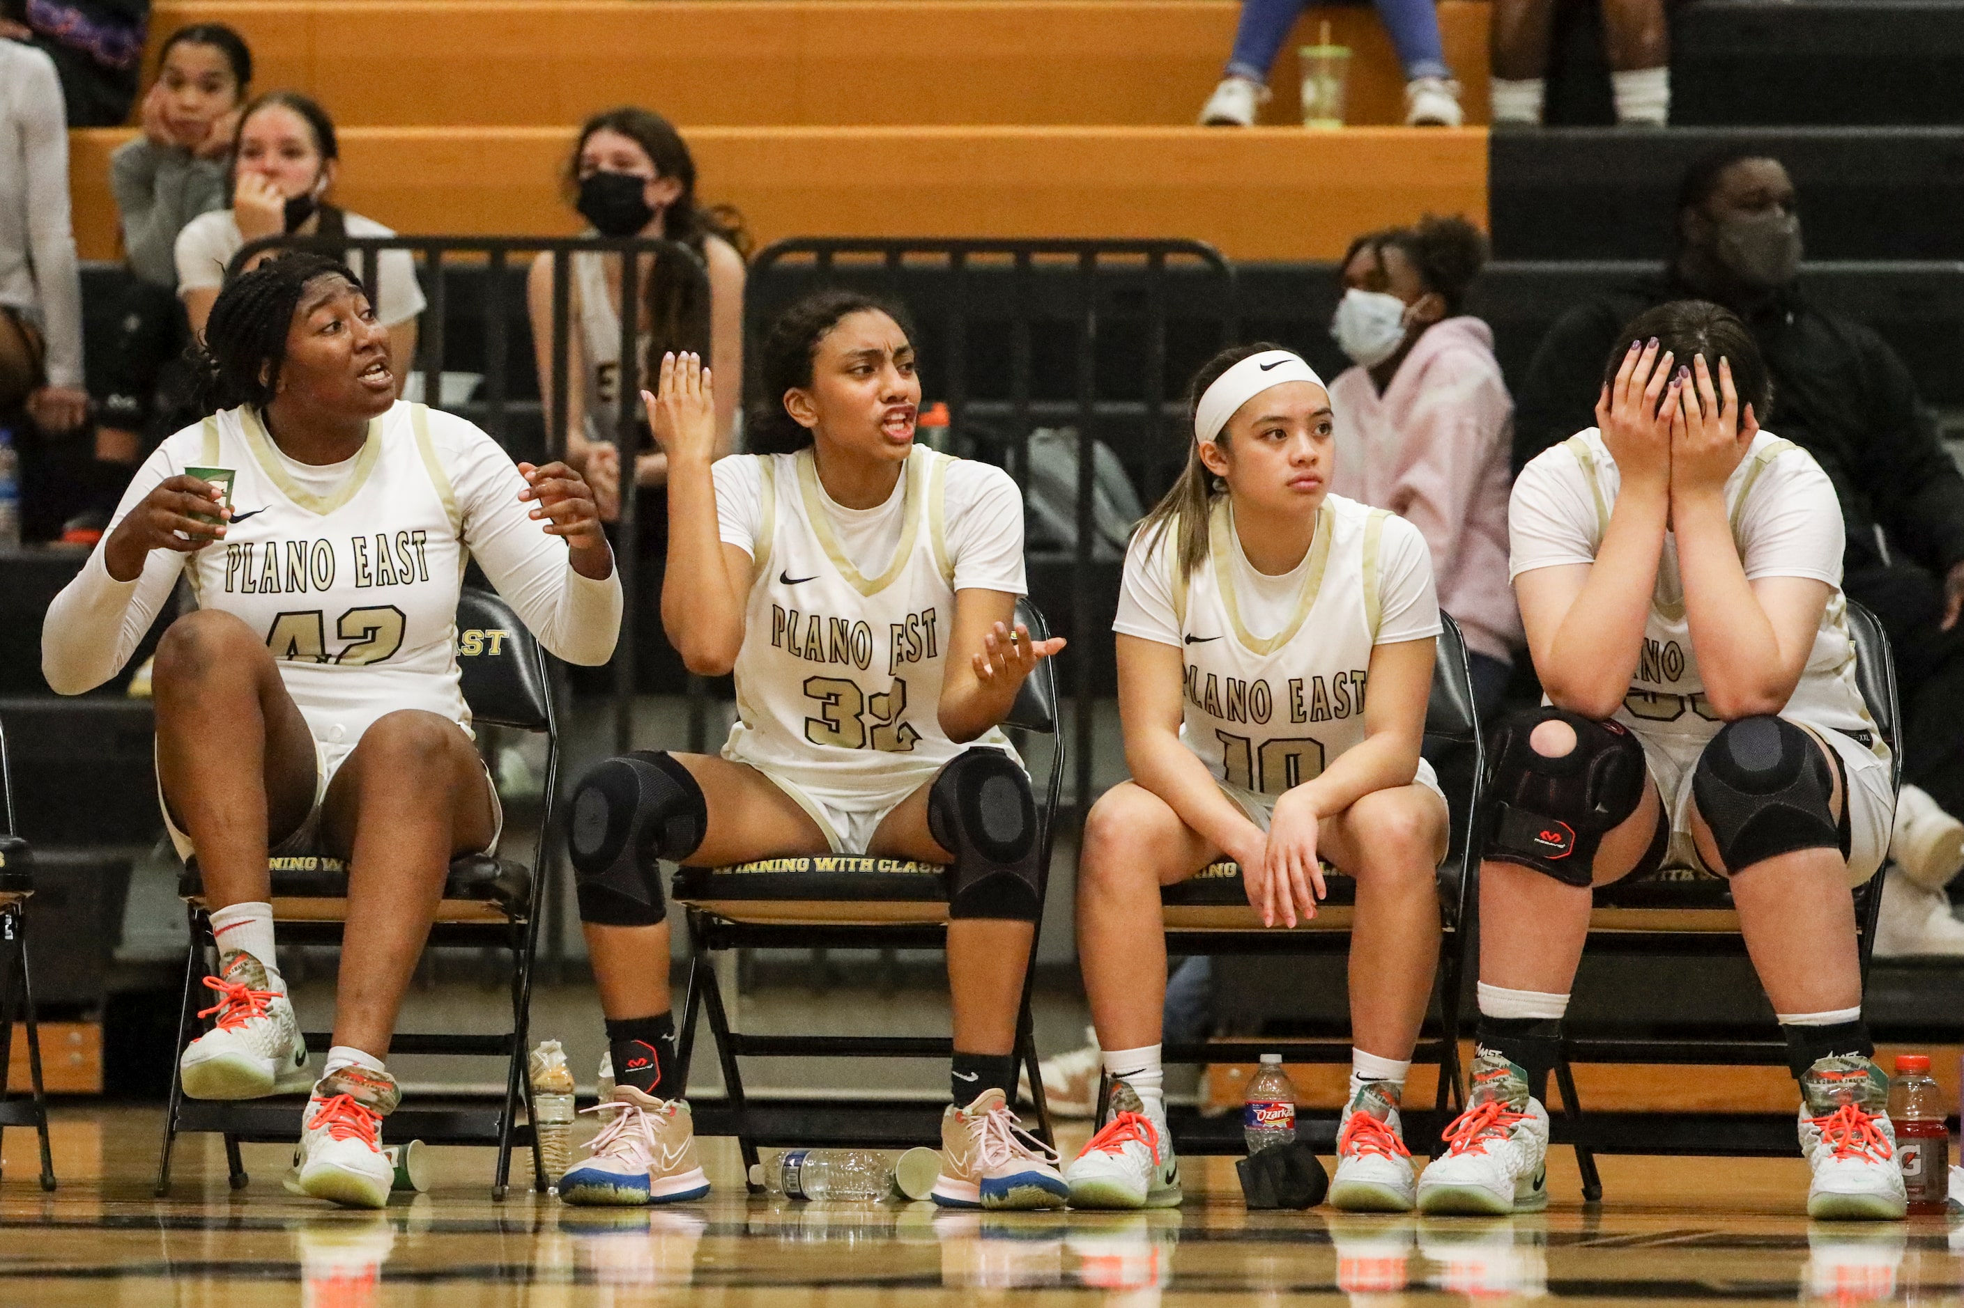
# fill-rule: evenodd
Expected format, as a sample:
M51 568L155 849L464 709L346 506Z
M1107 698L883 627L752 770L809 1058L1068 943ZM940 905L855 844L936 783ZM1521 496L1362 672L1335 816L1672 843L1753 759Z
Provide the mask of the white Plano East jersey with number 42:
M295 481L251 409L204 420L196 462L236 469L232 524L187 558L185 575L200 609L238 615L265 638L320 740L352 746L393 709L469 729L456 658L465 552L426 414L397 403L369 422L330 497Z

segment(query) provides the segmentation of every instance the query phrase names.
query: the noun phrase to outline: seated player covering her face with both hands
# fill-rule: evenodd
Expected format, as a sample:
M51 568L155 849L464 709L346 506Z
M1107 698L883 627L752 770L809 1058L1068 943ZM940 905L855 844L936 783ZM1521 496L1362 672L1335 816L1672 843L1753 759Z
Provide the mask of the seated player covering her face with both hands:
M1548 1072L1591 888L1658 868L1730 882L1799 1080L1815 1218L1899 1218L1850 886L1889 843L1889 754L1856 683L1842 517L1760 428L1752 336L1699 300L1624 328L1597 426L1514 485L1514 591L1546 707L1489 750L1479 1057L1426 1212L1548 1202Z

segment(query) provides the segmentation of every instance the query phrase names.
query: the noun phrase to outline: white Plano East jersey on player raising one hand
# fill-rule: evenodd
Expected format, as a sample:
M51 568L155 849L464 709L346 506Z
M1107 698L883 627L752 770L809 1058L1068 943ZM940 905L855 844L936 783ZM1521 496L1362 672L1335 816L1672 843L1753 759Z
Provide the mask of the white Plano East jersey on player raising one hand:
M809 448L736 458L762 463L764 513L723 756L827 795L903 797L968 748L939 717L955 628L943 479L955 460L913 448L900 544L886 572L864 575ZM1002 731L972 744L1009 750Z

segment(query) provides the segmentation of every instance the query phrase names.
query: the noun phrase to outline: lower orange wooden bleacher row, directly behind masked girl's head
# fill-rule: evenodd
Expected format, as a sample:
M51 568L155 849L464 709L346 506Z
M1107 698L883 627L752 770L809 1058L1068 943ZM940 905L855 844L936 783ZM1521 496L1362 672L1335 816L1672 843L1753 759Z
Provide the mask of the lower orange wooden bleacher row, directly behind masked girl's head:
M1422 212L1487 212L1485 128L689 128L699 194L786 236L1188 236L1336 259ZM108 155L71 132L82 255L116 257ZM336 196L401 232L572 232L570 128L350 128Z

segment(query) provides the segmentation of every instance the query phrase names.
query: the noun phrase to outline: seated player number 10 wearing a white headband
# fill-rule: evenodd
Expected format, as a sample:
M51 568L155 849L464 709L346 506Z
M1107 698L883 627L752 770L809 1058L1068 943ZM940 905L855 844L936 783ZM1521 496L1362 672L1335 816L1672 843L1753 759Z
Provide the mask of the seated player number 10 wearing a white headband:
M1440 634L1418 528L1330 493L1334 416L1298 355L1245 346L1194 379L1186 473L1125 554L1118 621L1129 782L1092 807L1078 958L1112 1114L1070 1202L1180 1200L1159 1023L1159 888L1229 858L1261 923L1357 882L1355 1051L1332 1202L1408 1210L1398 1096L1438 960L1446 799L1420 758Z

